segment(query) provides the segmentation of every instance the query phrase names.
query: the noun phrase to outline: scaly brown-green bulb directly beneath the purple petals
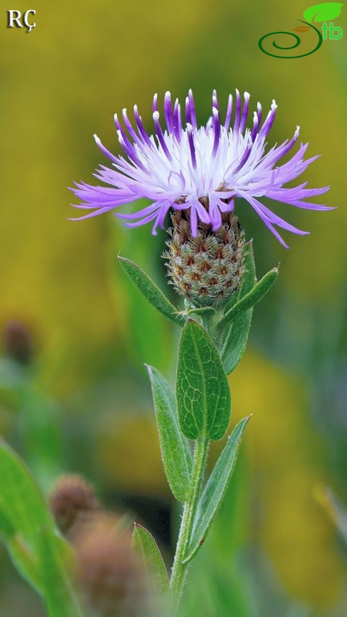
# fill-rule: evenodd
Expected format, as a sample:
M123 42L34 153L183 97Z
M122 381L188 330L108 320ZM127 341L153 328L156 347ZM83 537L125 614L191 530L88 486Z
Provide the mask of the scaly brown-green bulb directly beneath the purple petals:
M219 309L238 291L245 272L245 232L232 212L222 213L217 231L199 223L196 238L188 210L175 211L171 220L163 255L169 282L194 307Z

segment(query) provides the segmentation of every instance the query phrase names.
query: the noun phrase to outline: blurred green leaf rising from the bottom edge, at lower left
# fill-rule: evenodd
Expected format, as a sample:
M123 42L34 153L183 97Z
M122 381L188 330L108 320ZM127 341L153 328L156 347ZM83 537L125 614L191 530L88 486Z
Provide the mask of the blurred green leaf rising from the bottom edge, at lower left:
M40 564L48 617L82 617L62 558L62 543L66 544L52 529L41 529Z

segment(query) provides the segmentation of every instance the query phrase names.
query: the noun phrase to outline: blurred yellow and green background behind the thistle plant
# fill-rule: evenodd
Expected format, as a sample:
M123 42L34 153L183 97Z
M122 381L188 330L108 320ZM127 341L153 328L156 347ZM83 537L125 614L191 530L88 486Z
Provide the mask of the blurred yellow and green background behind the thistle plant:
M278 104L270 145L301 125L310 186L330 184L332 212L278 205L311 231L286 251L248 204L257 274L281 263L254 310L248 350L230 377L232 426L253 413L225 503L190 571L183 617L343 617L347 614L347 9L327 39L296 60L257 41L292 31L306 4L251 0L36 0L36 28L1 36L0 431L47 494L78 472L110 510L153 532L172 560L179 511L162 470L144 362L174 382L179 333L125 280L116 256L140 264L173 297L165 232L126 230L111 213L70 222L67 190L107 164L93 133L119 152L113 114L193 88L206 122L212 89L251 107ZM345 13L343 12L345 10ZM309 36L308 35L303 35ZM285 41L283 40L283 44ZM217 457L222 444L211 452ZM1 470L0 470L1 473ZM345 526L345 527L344 527ZM38 600L0 549L0 614L40 615Z

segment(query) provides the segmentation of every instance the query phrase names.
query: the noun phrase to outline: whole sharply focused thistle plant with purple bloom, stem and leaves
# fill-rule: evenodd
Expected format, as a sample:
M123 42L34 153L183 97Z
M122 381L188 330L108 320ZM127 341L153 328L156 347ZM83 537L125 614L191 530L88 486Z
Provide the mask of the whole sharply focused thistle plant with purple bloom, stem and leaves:
M233 109L235 107L235 109ZM307 202L328 190L310 189L307 183L285 188L317 157L304 160L308 144L279 164L296 144L299 126L291 139L267 152L266 139L275 120L272 101L262 122L257 104L253 123L246 128L249 94L243 102L236 90L230 95L224 123L212 94L212 114L198 126L191 90L185 102L185 126L178 99L164 97L164 128L153 99L155 134L148 135L137 107L134 121L123 109L123 126L114 117L124 156L115 156L94 136L112 166L101 165L94 174L106 186L76 184L73 193L82 200L75 207L88 210L82 217L115 210L128 227L153 222L152 233L167 224L164 259L169 283L184 298L184 309L171 304L156 284L132 261L119 257L120 265L136 288L164 317L182 328L178 349L175 390L164 376L148 366L165 473L174 497L183 503L174 563L167 573L155 540L135 528L134 545L141 549L149 571L177 609L188 566L211 528L228 483L249 418L241 420L227 439L209 478L205 478L211 441L225 436L230 423L231 398L227 376L245 351L253 306L269 291L278 276L270 270L256 279L252 243L235 215L241 199L261 217L274 236L287 247L280 230L307 232L280 218L260 201L266 197L298 208L328 210ZM145 197L149 205L121 213L120 205Z

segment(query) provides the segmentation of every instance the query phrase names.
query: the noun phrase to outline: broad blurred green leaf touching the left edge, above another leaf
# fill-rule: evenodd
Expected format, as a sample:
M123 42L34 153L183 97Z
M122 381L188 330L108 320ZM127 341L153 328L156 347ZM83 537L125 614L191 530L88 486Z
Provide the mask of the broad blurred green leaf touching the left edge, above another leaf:
M39 592L38 537L54 521L30 473L4 442L0 443L0 531L20 574Z

